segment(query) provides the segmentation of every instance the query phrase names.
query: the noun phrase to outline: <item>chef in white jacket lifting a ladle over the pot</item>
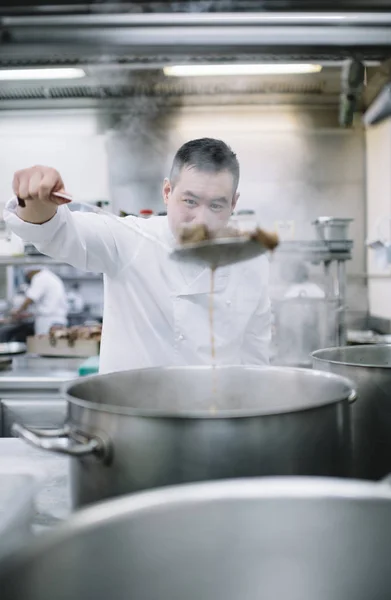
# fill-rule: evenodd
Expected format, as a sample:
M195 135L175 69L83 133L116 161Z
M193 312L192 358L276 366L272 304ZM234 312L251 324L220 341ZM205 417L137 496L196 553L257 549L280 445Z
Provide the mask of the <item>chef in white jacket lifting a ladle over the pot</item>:
M234 152L221 140L202 138L185 143L174 157L162 186L166 217L71 211L53 196L65 191L60 173L34 166L15 173L13 191L25 206L13 198L4 218L42 253L104 273L101 373L210 365L210 270L175 262L165 248L174 247L184 225L225 226L239 198L238 182ZM268 258L218 269L214 290L216 364L266 364Z

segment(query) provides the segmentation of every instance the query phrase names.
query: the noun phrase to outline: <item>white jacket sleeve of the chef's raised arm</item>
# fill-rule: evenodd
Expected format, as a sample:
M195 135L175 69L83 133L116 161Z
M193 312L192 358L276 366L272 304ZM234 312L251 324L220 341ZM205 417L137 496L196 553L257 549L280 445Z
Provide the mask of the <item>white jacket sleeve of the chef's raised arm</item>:
M115 218L82 213L60 206L43 225L26 223L16 214L17 201L10 200L4 220L24 241L43 254L78 269L115 276L131 261L142 238Z

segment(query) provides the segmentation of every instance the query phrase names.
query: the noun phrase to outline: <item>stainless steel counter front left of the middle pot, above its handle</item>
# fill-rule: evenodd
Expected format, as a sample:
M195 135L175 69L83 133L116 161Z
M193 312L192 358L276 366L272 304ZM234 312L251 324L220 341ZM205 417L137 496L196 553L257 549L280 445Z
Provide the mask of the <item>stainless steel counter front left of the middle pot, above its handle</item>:
M67 403L58 396L42 395L0 400L0 437L11 437L11 427L17 422L35 429L53 429L64 423Z

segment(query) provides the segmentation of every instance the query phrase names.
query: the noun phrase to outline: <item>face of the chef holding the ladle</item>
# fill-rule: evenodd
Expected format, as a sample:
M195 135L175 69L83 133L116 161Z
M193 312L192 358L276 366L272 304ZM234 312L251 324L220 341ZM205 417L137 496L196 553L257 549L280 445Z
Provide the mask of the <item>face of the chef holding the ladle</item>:
M224 227L235 208L239 194L234 192L229 171L213 173L184 167L174 188L164 180L163 198L171 231L177 236L183 226Z

